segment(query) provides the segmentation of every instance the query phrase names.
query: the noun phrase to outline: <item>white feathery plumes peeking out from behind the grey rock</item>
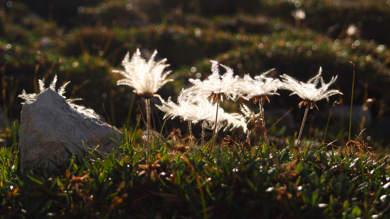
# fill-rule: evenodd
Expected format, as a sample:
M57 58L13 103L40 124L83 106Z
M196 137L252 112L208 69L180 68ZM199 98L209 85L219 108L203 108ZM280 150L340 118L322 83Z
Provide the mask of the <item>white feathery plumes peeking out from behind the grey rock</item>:
M55 84L57 83L57 74L54 76L53 80L51 81L50 83L50 89L51 90L54 90L55 92L57 92L58 94L60 94L62 97L64 97L66 99L66 97L64 96L64 93L65 93L65 87L66 85L69 84L70 81L66 82L64 85L62 85L57 91L55 90ZM39 83L39 92L43 92L45 88L45 78L43 78L42 80L38 80L38 83ZM23 90L22 94L18 95L18 97L24 99L25 101L28 101L30 99L33 99L37 94L35 93L32 93L32 94L27 94L25 90ZM83 113L84 115L88 116L88 117L92 117L92 118L99 118L99 115L97 115L95 113L95 111L93 109L89 109L89 108L85 108L85 106L82 106L82 105L77 105L77 104L74 104L73 102L74 101L78 101L78 100L82 100L82 99L67 99L66 102L69 104L69 106L71 106L73 109L75 109L76 111L78 111L79 113ZM25 102L22 102L22 104L24 104Z

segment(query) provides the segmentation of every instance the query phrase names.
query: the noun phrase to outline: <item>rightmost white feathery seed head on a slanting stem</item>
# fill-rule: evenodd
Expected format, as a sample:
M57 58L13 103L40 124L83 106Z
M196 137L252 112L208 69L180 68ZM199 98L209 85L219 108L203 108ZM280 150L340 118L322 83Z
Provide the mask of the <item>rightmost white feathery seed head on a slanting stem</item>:
M329 97L332 95L342 94L338 90L328 90L330 85L336 81L337 76L332 77L329 83L325 83L321 77L321 72L322 68L320 67L318 74L310 78L306 83L284 74L280 76L283 81L282 88L291 90L292 93L290 95L297 94L303 101L314 104L321 99L329 101ZM318 87L318 82L321 82L321 87Z

